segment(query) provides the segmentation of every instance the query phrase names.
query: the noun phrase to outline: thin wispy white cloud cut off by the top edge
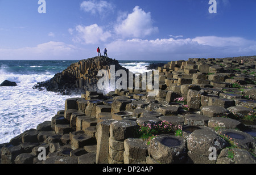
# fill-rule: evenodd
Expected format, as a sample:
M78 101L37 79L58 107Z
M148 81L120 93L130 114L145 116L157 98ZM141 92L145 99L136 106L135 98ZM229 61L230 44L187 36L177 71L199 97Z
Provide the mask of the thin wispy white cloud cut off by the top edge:
M92 14L104 14L112 12L114 10L114 5L106 1L83 1L80 5L81 9L85 12L90 12Z

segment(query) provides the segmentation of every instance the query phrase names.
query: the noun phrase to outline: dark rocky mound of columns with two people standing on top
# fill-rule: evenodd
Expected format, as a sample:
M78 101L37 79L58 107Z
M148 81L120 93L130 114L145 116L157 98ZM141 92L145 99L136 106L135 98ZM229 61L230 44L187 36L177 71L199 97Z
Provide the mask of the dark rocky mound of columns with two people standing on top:
M99 91L97 88L97 82L100 79L97 76L98 71L101 69L110 71L111 65L115 66L115 71L122 69L128 72L115 59L104 56L93 57L73 63L67 69L55 74L52 79L37 83L34 88L46 88L47 91L59 92L61 95L81 94L86 90Z

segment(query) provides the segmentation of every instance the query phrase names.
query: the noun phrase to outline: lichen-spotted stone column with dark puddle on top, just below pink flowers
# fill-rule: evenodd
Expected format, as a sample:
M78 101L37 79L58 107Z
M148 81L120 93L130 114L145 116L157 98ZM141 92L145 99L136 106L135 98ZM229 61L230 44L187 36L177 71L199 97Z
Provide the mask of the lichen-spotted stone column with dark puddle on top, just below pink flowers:
M150 141L148 154L162 164L185 163L187 148L185 139L174 135L159 135Z

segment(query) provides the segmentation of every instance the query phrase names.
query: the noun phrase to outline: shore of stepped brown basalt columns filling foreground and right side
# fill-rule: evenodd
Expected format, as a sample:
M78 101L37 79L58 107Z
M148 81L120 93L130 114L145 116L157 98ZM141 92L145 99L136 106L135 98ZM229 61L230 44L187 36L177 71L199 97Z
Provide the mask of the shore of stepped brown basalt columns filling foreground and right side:
M88 61L55 76L55 85L64 72L93 82L79 72L103 65L85 69L82 62ZM1 163L255 164L255 63L256 56L171 61L158 67L156 96L139 89L104 95L76 79L76 87L84 89L81 97L67 99L51 121L1 144ZM57 86L52 89L64 89ZM163 123L181 133L139 135L142 128L162 129ZM46 149L46 160L38 159L39 147Z

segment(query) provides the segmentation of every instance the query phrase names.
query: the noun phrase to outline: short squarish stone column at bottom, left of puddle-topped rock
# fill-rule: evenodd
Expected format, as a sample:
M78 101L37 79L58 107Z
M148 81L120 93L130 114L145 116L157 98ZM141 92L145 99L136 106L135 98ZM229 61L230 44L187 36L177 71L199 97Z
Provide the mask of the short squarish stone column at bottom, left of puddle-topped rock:
M147 142L143 139L130 138L123 142L125 152L123 152L123 163L146 163Z

